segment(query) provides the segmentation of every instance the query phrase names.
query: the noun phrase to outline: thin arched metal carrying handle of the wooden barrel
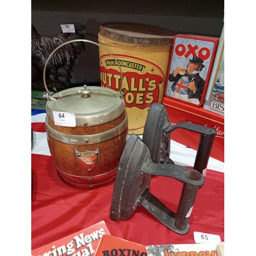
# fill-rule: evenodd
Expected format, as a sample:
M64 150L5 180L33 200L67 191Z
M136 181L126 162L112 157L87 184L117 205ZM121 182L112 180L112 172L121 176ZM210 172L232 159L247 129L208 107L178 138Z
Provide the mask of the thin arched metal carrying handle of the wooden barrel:
M93 44L93 45L96 45L96 46L98 46L98 47L101 47L102 49L104 49L106 52L108 52L108 53L114 58L114 60L116 61L117 65L118 65L118 68L119 68L119 70L120 70L120 75L121 75L121 87L120 87L119 93L120 93L121 97L123 97L123 95L124 95L124 89L122 88L122 86L123 86L122 70L121 70L121 67L120 67L120 65L119 65L118 60L116 59L116 57L115 57L108 49L106 49L105 47L99 45L97 42L94 42L94 41L91 41L91 40L87 40L87 39L74 39L74 40L70 40L70 41L63 42L63 44L61 44L61 45L59 45L58 47L56 47L56 48L53 50L53 52L50 54L50 56L48 57L48 59L47 59L47 61L46 61L46 63L45 63L45 68L44 68L44 72L43 72L43 79L44 79L45 89L46 89L46 91L47 91L47 93L48 93L47 98L54 99L54 97L51 97L51 96L50 96L51 93L50 93L50 91L49 91L49 89L48 89L47 82L46 82L46 68L47 68L47 65L48 65L48 62L49 62L50 58L51 58L52 55L53 55L59 48L61 48L62 46L65 46L65 45L67 45L67 44L71 44L72 42L78 42L78 41L81 41L81 42L90 42L90 43Z

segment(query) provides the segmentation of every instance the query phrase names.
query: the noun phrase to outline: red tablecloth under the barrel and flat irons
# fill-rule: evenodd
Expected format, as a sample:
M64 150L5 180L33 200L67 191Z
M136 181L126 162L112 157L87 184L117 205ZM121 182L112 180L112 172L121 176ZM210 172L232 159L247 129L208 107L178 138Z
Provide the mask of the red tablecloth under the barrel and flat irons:
M60 180L51 156L32 154L32 249L104 220L113 236L143 245L195 243L193 232L218 234L224 241L224 174L207 170L198 191L187 234L177 234L139 207L129 220L110 219L114 182L92 190ZM151 193L176 212L183 183L155 176Z

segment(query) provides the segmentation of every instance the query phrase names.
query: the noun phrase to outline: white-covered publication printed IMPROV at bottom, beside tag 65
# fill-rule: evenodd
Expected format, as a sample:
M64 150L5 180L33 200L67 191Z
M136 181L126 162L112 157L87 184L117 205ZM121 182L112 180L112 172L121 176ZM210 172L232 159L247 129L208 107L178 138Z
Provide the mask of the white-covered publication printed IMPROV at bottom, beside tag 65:
M146 246L148 256L224 256L218 254L219 245L224 243L200 243L200 244L169 244L169 245L149 245Z

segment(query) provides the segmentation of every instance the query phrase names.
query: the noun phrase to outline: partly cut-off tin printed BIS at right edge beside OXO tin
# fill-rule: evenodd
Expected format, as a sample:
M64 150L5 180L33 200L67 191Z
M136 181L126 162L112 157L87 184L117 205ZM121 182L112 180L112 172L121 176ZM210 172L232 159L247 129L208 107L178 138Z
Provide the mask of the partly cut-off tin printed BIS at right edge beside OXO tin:
M203 108L224 116L224 24Z

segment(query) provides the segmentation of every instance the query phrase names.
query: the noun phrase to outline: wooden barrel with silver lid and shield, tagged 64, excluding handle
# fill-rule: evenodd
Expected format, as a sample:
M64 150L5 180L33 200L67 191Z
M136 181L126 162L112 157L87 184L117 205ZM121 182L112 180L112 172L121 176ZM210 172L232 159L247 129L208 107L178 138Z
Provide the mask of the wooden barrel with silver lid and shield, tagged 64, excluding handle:
M46 132L59 176L78 188L112 181L127 136L123 97L109 88L63 90L46 105Z

